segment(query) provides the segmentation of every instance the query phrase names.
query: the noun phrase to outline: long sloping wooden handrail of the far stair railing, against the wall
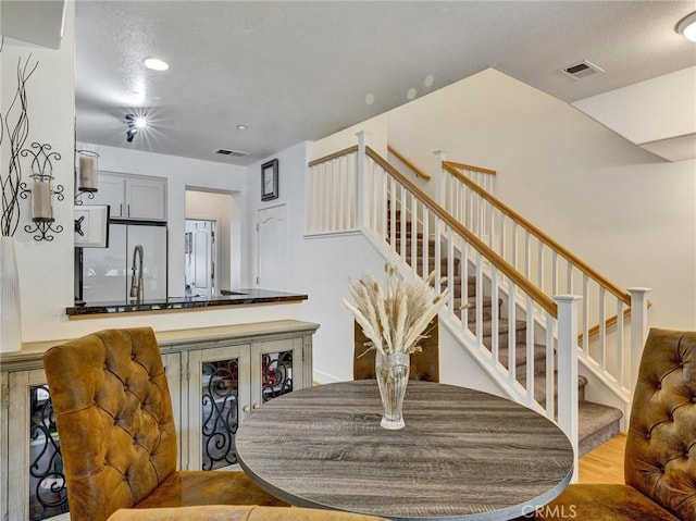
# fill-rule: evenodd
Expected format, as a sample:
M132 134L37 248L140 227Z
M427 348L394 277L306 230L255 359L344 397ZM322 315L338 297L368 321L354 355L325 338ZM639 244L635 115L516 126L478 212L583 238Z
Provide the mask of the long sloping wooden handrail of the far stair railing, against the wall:
M512 210L502 201L496 199L494 196L492 196L488 191L480 187L476 183L471 181L469 177L467 177L465 175L462 175L461 172L457 170L457 166L455 166L456 164L457 163L452 163L450 161L443 161L443 168L447 172L449 172L451 175L453 175L457 179L465 184L469 188L471 188L473 191L475 191L481 197L486 199L494 207L498 208L498 210L507 214L510 219L512 219L513 221L517 221L526 231L535 235L538 239L547 244L550 248L558 251L561 255L561 257L563 257L568 262L573 264L575 268L580 269L586 275L589 275L592 278L597 281L601 286L606 287L609 290L609 293L611 293L614 297L617 297L623 303L631 306L631 295L629 295L627 291L624 291L619 286L610 282L607 277L605 277L604 275L595 271L592 266L589 266L586 262L577 258L570 250L559 245L556 240L554 240L551 237L546 235L544 232L542 232L539 228L537 228L534 224L532 224L530 221L524 219L518 212Z

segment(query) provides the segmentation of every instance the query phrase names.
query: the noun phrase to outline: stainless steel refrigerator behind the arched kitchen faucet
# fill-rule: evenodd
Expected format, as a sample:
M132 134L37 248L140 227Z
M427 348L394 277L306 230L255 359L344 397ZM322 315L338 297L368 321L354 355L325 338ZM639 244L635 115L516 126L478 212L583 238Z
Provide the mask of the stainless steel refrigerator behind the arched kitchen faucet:
M134 251L142 246L144 301L166 299L166 224L109 223L108 248L83 249L83 295L85 302L130 300ZM136 257L136 266L139 259Z

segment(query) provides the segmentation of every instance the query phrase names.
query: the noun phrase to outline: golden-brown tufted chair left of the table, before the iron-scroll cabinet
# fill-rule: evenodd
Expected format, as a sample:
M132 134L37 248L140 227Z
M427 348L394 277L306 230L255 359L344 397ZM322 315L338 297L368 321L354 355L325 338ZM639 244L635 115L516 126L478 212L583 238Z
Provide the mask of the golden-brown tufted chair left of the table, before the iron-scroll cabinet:
M243 472L176 471L174 418L149 327L105 330L52 347L44 368L73 521L120 508L286 506Z

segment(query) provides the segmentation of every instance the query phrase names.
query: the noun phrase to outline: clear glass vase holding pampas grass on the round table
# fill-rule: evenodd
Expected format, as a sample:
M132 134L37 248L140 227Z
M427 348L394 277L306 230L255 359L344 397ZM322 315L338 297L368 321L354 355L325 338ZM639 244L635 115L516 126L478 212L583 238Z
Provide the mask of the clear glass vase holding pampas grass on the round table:
M403 396L409 382L410 356L406 352L382 355L375 357L375 373L382 398L382 421L384 429L395 431L402 429Z

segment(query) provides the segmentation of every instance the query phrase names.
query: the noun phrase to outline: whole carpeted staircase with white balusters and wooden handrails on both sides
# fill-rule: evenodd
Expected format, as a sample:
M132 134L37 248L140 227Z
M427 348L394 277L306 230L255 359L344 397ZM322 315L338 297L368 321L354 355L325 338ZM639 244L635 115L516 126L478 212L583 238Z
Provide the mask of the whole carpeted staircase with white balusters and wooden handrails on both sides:
M502 393L555 419L577 455L617 434L645 344L647 291L618 287L458 172L471 168L443 161L451 175L431 196L365 137L308 163L308 235L361 233L403 274L435 269L436 284L451 288L439 324ZM585 399L595 382L592 395L617 408Z

